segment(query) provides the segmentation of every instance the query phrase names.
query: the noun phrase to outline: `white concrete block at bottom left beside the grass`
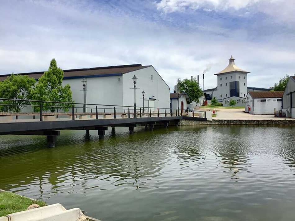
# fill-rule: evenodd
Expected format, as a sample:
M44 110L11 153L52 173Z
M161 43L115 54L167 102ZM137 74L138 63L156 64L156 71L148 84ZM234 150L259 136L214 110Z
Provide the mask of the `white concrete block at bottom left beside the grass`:
M32 210L12 213L7 216L9 217L9 221L29 221L32 220L32 218L43 219L54 214L60 214L63 211L66 211L65 207L63 207L60 203L57 203Z

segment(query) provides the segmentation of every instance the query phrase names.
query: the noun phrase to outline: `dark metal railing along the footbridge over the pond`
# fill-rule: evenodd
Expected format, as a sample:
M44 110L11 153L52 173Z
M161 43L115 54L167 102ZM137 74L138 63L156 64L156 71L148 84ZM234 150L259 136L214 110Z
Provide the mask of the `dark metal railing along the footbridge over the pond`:
M191 117L206 118L204 111L181 110L178 108L162 108L162 107L144 107L144 106L128 106L128 105L111 105L111 104L92 104L92 103L75 103L75 102L61 102L61 101L42 101L42 100L28 100L28 99L8 99L0 98L0 116L22 115L22 112L11 112L11 110L23 110L24 108L33 108L33 112L29 115L40 116L40 121L43 121L43 115L70 115L72 120L75 120L77 115L117 115L125 117L152 117L152 116L183 116L191 115ZM22 102L22 103L20 103ZM38 112L37 112L38 111ZM49 111L49 112L47 112ZM56 111L56 112L55 112ZM135 112L135 113L134 113ZM28 113L25 113L28 114ZM195 116L196 115L196 116Z

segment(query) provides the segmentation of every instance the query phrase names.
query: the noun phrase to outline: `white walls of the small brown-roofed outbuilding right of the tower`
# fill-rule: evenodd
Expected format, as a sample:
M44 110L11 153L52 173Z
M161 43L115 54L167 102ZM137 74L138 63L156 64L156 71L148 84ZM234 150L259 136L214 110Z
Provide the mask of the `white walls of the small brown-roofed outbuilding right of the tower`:
M262 100L262 101L261 101ZM265 100L265 101L264 101ZM281 98L252 98L250 94L245 99L245 112L250 114L274 114L282 110ZM250 112L248 108L250 107Z

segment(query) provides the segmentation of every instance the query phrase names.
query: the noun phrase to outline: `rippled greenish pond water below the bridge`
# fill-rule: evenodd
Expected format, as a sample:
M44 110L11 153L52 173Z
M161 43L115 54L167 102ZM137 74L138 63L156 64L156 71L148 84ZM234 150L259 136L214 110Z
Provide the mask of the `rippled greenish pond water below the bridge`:
M0 188L103 221L294 220L295 127L0 136Z

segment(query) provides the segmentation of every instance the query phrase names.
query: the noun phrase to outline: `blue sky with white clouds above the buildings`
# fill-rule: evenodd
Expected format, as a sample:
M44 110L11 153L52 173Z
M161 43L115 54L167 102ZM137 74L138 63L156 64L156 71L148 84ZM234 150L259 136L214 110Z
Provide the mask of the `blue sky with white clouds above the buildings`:
M205 89L234 56L248 86L295 74L294 0L0 0L0 74L153 65ZM140 81L140 79L138 79Z

